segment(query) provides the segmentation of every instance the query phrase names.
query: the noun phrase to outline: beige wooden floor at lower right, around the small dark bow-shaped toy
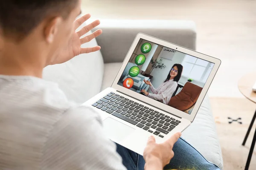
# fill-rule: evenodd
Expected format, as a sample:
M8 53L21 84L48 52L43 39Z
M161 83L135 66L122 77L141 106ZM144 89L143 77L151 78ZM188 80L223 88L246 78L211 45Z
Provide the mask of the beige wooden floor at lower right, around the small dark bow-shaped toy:
M256 109L256 104L244 98L210 98L213 115L221 144L225 170L243 170L250 150L256 123L250 132L245 146L244 136ZM241 118L242 124L228 123L229 119ZM256 148L251 159L250 170L256 170Z

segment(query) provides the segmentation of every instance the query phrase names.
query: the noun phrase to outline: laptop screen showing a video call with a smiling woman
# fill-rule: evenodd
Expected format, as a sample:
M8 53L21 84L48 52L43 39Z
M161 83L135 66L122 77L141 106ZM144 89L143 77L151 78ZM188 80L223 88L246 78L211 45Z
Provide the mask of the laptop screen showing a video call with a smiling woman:
M214 63L140 39L118 85L190 114Z

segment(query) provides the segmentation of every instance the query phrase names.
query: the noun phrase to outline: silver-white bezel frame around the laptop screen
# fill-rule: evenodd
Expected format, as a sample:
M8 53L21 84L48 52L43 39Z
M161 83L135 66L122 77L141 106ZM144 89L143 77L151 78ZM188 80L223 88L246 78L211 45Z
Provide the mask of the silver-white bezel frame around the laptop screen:
M200 58L200 59L204 59L204 60L207 60L209 62L214 63L212 71L211 71L211 73L210 73L210 75L209 75L209 77L208 77L208 79L207 79L207 81L204 85L204 88L201 91L201 94L198 97L197 102L195 103L195 106L194 106L191 114L185 113L185 112L180 111L180 110L175 109L175 108L172 108L169 105L165 105L161 102L158 102L158 101L156 101L154 99L151 99L147 96L143 96L143 95L141 95L141 94L139 94L135 91L132 91L128 88L124 88L123 86L117 84L140 39L147 40L147 41L153 42L153 43L158 44L158 45L162 45L162 46L167 47L167 48L172 48L172 49L180 51L182 53L189 54L191 56L194 56L194 57L197 57L197 58ZM120 91L120 92L124 93L124 94L127 94L129 96L133 96L135 99L139 99L140 101L148 103L149 105L155 106L157 108L160 108L161 110L164 110L164 111L172 113L176 116L188 119L190 122L193 122L193 120L195 119L195 115L197 114L197 112L198 112L198 110L201 106L201 103L203 102L204 97L207 94L209 86L211 85L212 80L215 77L215 74L216 74L220 64L221 64L220 59L210 57L210 56L205 55L205 54L201 54L199 52L190 50L188 48L184 48L184 47L181 47L179 45L175 45L175 44L172 44L170 42L166 42L164 40L160 40L160 39L157 39L155 37L151 37L151 36L146 35L146 34L139 33L139 34L137 34L134 42L132 43L131 48L129 49L129 51L128 51L128 53L127 53L122 65L121 65L121 67L120 67L120 69L119 69L119 71L116 75L116 78L114 79L113 84L111 85L111 87L116 89L117 91Z

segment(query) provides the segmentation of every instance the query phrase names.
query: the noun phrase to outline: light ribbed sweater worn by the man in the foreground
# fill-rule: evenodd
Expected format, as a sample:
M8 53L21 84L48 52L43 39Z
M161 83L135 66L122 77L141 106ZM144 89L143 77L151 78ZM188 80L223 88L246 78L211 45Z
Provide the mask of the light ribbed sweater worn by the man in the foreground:
M123 170L99 114L58 85L0 75L0 170Z

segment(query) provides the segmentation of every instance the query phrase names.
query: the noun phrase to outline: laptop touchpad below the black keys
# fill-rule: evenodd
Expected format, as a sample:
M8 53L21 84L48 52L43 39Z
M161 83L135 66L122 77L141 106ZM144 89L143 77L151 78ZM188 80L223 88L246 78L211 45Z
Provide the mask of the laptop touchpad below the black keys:
M108 138L116 142L122 141L135 130L134 128L122 124L121 122L118 122L110 117L103 121L103 126L105 134L107 134Z

